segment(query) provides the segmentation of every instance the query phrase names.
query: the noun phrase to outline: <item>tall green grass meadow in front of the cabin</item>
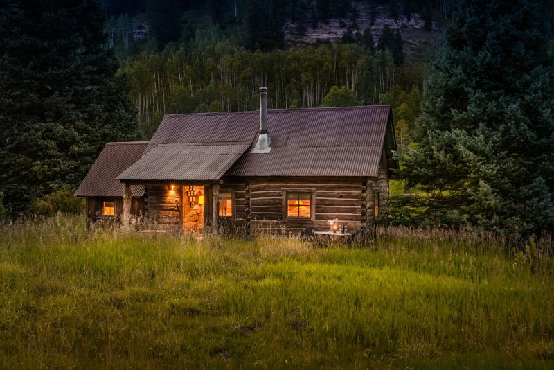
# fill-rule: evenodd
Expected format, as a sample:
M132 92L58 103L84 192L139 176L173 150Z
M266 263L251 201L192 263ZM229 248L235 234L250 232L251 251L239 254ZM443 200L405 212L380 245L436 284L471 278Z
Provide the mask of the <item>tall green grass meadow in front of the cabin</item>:
M346 249L6 225L0 369L554 366L552 257L388 233Z

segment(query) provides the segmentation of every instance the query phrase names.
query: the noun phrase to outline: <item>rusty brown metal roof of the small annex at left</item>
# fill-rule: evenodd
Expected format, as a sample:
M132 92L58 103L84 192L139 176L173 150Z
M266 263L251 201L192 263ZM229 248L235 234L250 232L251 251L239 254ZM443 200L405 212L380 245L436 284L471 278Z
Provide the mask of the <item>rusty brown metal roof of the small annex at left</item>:
M107 143L75 191L78 197L123 197L123 184L116 179L125 168L141 158L148 141ZM131 186L133 197L144 195L144 186Z

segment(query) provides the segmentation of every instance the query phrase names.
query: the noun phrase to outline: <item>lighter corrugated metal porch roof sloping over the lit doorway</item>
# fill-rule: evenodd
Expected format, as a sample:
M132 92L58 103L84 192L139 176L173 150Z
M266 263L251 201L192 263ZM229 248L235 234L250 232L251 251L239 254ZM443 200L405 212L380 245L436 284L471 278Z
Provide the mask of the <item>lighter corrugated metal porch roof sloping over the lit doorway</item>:
M250 145L250 142L159 144L117 179L145 182L217 180Z

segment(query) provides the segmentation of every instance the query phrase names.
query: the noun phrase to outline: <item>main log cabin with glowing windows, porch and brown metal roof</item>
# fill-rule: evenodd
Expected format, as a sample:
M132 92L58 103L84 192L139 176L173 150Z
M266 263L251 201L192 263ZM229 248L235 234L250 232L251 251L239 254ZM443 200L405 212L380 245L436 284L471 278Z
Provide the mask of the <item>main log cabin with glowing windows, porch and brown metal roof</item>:
M267 110L267 89L259 92L259 111L166 115L134 163L118 175L95 163L83 183L120 182L124 223L141 194L138 209L159 228L196 234L328 230L332 219L352 230L384 216L398 168L389 105ZM105 151L101 163L123 166L123 152ZM97 196L80 189L87 204Z

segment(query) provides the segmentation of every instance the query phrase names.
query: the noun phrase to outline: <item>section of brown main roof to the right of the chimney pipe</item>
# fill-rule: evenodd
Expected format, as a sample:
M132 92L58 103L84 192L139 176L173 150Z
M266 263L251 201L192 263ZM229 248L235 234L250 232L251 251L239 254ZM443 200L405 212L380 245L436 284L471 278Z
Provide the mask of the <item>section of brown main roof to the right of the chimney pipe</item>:
M271 152L247 153L225 175L375 177L390 114L388 105L269 111Z

